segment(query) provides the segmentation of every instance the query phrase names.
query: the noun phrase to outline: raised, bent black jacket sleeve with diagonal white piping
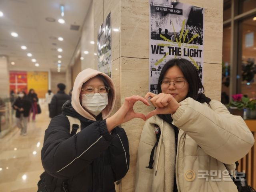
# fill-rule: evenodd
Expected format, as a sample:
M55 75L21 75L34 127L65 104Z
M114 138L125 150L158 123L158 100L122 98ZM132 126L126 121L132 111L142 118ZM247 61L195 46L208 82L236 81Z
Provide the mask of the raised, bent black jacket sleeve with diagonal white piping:
M54 117L44 137L41 152L46 172L67 179L78 174L110 146L106 120L96 121L70 137L70 124L65 115Z

